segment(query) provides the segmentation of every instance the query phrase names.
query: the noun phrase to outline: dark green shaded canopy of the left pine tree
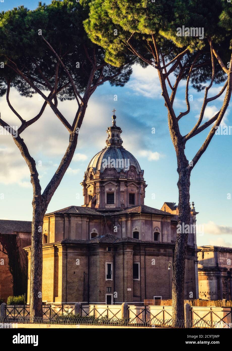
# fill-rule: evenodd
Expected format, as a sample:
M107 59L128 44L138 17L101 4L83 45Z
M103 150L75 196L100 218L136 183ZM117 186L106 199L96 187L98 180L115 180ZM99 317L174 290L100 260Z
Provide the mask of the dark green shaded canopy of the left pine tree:
M53 0L49 5L40 2L34 11L20 6L1 12L0 96L6 93L7 83L23 96L31 97L35 93L13 69L16 67L40 90L49 90L49 84L54 86L57 58L44 39L61 57L80 93L85 91L93 58L96 58L96 67L99 68L94 73L92 86L99 85L99 77L102 83L109 80L111 85L123 86L132 72L130 58L125 58L125 65L116 76L119 69L104 61L105 49L87 37L83 21L88 12L88 4L68 0ZM58 69L57 96L60 100L73 99L69 78L61 66Z

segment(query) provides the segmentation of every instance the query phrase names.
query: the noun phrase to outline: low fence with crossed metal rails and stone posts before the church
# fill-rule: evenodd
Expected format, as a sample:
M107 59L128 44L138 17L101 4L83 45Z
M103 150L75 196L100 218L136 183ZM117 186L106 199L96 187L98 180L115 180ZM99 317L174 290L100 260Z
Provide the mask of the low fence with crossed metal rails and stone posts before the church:
M30 323L29 305L1 304L1 323ZM232 328L231 307L198 307L185 304L185 320L175 327ZM7 321L7 322L6 322ZM43 305L43 317L35 318L39 324L115 325L173 327L171 306Z

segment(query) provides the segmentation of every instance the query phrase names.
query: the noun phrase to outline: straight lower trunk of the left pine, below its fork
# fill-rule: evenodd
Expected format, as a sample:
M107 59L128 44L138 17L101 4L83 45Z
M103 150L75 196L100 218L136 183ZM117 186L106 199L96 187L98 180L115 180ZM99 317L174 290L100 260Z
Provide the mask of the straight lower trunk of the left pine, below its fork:
M44 206L38 197L33 198L33 219L31 233L31 271L30 271L30 320L43 317L42 310L42 228L45 214Z

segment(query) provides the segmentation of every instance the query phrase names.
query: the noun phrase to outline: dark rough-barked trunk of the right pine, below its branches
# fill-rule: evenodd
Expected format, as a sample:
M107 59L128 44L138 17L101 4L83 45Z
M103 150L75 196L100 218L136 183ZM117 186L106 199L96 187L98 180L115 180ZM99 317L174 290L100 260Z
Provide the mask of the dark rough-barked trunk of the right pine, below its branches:
M173 260L172 288L174 327L178 327L181 325L184 326L184 269L188 233L185 233L182 228L184 228L185 225L189 225L190 221L190 171L188 171L186 168L182 168L182 170L180 170L178 173L179 180L177 186L179 189L179 216Z

